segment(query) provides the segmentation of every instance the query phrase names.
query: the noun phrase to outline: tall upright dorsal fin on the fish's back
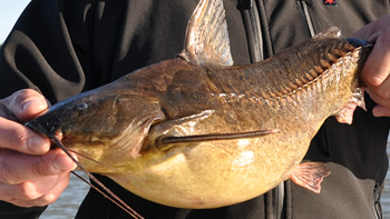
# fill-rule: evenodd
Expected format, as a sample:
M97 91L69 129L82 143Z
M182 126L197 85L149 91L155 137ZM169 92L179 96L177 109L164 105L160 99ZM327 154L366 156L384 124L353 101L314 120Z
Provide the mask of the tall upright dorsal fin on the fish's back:
M178 57L197 64L233 66L222 0L201 0L187 26Z

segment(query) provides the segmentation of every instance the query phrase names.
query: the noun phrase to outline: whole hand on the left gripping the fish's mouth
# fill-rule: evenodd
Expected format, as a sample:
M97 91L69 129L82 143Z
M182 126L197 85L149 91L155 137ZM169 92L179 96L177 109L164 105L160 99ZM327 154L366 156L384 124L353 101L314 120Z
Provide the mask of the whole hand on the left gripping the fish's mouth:
M47 206L68 186L75 163L22 125L48 106L30 89L0 100L0 200L20 207Z

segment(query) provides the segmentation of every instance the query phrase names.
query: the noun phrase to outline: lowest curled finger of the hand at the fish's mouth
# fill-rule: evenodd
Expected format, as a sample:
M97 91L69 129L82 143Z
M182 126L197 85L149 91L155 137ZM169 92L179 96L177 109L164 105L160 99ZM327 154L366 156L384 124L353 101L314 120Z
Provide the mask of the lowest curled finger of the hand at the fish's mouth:
M47 206L58 199L69 179L66 172L20 185L0 185L1 199L20 207Z

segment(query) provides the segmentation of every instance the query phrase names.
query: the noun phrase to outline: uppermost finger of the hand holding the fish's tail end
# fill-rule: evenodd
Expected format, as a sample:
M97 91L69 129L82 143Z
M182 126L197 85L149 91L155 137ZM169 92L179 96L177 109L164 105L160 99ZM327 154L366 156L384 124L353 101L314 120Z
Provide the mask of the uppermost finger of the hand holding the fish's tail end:
M361 71L361 79L368 84L381 86L390 73L390 28L378 36ZM390 82L387 82L390 83Z

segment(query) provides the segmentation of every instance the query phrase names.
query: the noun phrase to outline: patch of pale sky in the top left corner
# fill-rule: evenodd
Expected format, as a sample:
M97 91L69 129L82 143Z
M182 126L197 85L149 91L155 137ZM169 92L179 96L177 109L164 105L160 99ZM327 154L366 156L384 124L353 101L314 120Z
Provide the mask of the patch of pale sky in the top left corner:
M0 44L2 44L30 0L0 0Z

